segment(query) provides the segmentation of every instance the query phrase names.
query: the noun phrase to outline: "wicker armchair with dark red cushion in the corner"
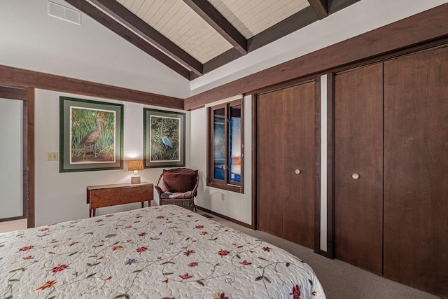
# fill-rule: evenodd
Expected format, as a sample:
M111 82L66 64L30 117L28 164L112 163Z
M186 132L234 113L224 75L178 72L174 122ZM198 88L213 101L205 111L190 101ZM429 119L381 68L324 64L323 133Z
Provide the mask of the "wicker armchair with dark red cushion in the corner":
M162 179L163 178L163 179ZM163 181L160 188L160 180ZM155 190L159 193L159 204L176 204L178 206L195 209L195 196L199 185L197 170L189 168L163 169Z

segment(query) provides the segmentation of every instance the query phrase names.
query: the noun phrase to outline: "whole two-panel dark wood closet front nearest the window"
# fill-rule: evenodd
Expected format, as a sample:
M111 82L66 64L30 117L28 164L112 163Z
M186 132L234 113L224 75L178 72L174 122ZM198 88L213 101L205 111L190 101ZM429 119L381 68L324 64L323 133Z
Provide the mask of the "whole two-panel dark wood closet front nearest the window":
M258 228L314 248L314 82L258 97Z

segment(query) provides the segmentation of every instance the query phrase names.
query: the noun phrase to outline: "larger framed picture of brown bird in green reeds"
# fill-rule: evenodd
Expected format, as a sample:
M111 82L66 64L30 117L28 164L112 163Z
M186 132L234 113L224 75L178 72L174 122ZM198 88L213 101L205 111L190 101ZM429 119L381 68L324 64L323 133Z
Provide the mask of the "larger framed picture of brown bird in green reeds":
M123 169L123 104L59 97L59 172Z

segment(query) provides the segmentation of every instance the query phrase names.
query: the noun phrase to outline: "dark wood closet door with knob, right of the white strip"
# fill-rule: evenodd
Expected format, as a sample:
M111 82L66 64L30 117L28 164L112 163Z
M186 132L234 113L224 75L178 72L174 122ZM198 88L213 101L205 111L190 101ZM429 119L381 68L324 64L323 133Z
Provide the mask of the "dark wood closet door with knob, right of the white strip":
M382 64L335 76L335 257L382 274ZM358 179L356 175L358 174Z

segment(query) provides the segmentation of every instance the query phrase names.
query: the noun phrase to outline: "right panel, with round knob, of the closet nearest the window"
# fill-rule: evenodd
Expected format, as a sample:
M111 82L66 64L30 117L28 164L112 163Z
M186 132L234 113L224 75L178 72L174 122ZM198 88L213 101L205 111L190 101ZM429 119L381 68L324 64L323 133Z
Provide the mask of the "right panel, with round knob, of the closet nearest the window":
M314 97L314 82L283 90L283 237L309 248L314 248Z

